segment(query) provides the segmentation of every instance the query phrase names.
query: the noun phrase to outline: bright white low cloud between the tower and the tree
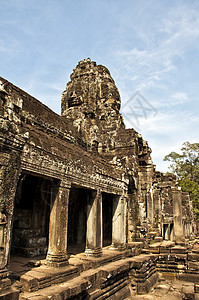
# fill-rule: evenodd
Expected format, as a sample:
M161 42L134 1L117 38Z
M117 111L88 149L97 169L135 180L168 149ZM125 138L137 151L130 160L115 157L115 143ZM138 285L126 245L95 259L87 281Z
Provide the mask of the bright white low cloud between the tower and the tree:
M125 118L124 118L125 119ZM134 127L152 148L152 159L157 170L168 171L169 163L163 158L172 151L180 152L182 143L197 142L197 128L199 119L190 111L159 111L157 115L151 114L147 118L139 119L139 124L133 118L125 124ZM135 128L136 126L136 128Z

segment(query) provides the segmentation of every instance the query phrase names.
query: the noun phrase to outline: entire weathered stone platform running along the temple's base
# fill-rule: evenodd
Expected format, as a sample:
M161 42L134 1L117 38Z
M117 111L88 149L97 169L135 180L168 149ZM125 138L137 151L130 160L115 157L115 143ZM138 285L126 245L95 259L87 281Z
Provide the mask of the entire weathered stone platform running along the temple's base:
M71 255L69 265L62 268L47 266L42 257L38 261L15 257L11 260L15 298L0 299L198 299L196 246L189 249L164 241L144 249L144 243L137 242L124 251L104 248L101 257Z

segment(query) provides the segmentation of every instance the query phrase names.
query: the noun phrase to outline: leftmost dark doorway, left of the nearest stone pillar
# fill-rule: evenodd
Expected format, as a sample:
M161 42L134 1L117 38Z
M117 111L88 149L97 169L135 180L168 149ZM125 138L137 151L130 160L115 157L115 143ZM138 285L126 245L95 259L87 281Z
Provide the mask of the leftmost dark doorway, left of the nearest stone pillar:
M22 174L14 205L11 254L23 257L47 253L50 201L59 181Z

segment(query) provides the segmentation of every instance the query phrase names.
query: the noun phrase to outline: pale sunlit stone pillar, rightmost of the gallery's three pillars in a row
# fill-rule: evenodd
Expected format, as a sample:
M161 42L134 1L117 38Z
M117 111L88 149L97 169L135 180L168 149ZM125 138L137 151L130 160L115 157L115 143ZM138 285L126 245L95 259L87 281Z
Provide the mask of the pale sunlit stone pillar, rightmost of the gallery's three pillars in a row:
M125 248L125 221L124 197L113 198L112 244L110 250L124 250Z

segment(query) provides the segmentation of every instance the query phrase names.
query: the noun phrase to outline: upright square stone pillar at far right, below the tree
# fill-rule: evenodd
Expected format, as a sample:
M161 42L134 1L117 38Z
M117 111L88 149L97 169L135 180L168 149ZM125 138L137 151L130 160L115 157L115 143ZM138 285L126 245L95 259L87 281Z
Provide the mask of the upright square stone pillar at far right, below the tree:
M182 226L182 197L181 191L177 188L172 190L173 200L173 221L174 221L174 237L175 242L184 241L183 226Z

